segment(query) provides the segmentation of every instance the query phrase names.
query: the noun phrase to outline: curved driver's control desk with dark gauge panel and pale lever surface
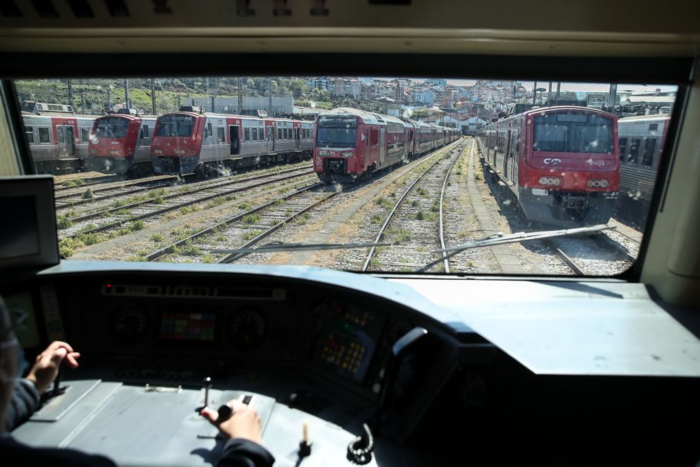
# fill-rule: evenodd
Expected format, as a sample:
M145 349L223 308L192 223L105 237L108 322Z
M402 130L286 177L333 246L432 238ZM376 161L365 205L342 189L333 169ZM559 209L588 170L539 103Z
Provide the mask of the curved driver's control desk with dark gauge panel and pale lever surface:
M382 456L382 465L418 465L420 456L400 449L400 440L440 388L419 379L444 382L454 368L453 358L415 361L394 384L395 344L403 336L419 329L423 340L429 333L431 356L447 356L454 353L449 339L434 337L449 333L428 316L357 288L110 272L5 289L0 293L10 305L31 310L19 336L29 343L28 358L55 339L82 354L78 369L61 372L64 391L13 436L29 445L104 454L120 465L215 463L223 440L199 410L231 399L258 411L275 465L302 460L304 424L312 443L304 465L354 465L348 446L364 435L355 446L365 447L365 423L383 431L374 433L370 465ZM426 344L409 339L402 345ZM411 408L416 398L424 403ZM392 404L400 417L389 423Z

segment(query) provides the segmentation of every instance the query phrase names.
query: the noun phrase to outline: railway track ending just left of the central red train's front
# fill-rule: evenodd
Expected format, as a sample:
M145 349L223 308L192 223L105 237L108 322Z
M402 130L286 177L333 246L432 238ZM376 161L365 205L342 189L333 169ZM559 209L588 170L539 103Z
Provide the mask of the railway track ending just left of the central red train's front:
M290 172L296 173L290 174ZM289 169L288 171L276 172L274 174L225 181L201 188L190 189L188 186L183 186L176 189L174 193L169 194L154 192L155 196L150 196L146 200L71 218L71 222L73 223L73 225L71 225L71 230L73 231L70 232L69 235L62 235L60 237L62 239L73 238L78 235L89 235L122 228L125 225L143 221L146 218L160 216L178 209L187 209L193 204L216 200L217 198L221 198L224 202L231 201L232 199L227 200L226 198L232 197L235 193L267 186L271 183L301 179L311 174L314 174L314 172L308 170L308 167L305 166ZM235 188L230 188L234 185L236 186ZM134 213L134 211L136 212ZM105 222L102 225L95 225L94 227L87 226L89 228L86 228L85 223L87 221L92 221L97 218L104 219Z

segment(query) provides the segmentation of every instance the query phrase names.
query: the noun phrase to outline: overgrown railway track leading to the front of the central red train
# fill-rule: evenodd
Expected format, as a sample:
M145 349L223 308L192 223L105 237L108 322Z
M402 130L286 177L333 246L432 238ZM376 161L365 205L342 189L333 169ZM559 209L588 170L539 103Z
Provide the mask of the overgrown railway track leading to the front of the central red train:
M302 216L308 211L338 194L339 192L332 186L314 183L289 195L248 209L209 228L203 228L184 239L154 251L146 256L146 260L162 260L166 256L178 255L188 256L190 259L193 256L206 256L205 252L209 250L248 248L283 226L303 218ZM244 240L246 242L237 244ZM207 262L214 262L215 258L216 263L231 263L239 257L236 253L218 255L218 258L210 255Z

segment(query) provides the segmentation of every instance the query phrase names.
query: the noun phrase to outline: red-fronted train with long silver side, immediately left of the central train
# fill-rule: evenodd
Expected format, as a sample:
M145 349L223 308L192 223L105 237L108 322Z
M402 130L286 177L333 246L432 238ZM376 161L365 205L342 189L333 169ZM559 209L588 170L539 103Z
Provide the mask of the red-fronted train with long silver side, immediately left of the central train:
M158 117L151 139L157 174L210 174L311 155L314 123L288 118L205 114L198 107Z

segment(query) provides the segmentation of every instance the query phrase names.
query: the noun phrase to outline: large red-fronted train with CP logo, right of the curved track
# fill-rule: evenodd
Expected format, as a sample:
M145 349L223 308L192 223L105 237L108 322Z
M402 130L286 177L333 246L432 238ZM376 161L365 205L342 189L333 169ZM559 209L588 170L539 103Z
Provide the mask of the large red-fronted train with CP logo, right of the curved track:
M577 106L533 109L477 137L492 176L526 218L562 227L607 223L620 183L617 117Z

